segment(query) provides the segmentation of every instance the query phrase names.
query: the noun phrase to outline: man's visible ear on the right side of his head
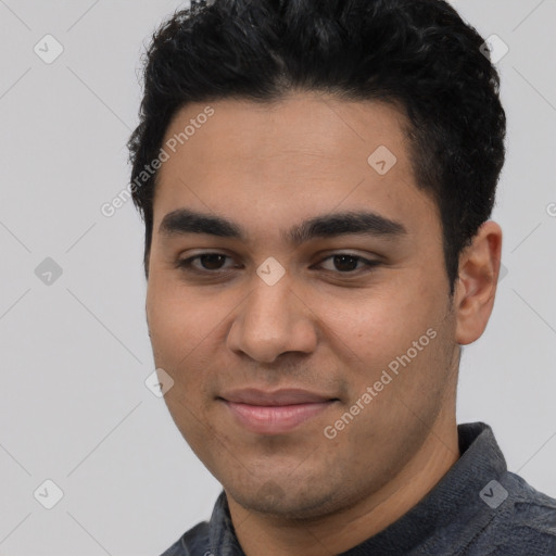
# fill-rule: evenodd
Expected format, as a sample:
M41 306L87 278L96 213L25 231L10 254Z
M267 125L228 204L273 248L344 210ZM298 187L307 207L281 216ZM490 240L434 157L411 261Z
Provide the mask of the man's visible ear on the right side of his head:
M462 345L478 340L494 306L502 253L502 228L485 222L472 243L459 256L454 294L456 341Z

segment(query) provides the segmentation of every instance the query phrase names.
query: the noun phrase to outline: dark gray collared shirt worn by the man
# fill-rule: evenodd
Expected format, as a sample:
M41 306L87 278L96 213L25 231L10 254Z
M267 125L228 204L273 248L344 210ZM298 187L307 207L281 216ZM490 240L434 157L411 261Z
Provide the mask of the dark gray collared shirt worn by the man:
M556 500L507 470L492 429L458 426L462 456L416 506L340 556L556 556ZM223 491L162 556L244 556Z

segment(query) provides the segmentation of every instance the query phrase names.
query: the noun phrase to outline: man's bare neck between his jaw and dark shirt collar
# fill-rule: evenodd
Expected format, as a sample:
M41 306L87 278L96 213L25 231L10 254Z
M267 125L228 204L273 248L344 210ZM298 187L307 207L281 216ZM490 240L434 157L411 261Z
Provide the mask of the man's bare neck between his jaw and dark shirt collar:
M455 415L437 421L403 470L379 491L341 513L309 522L250 511L227 495L236 534L247 556L340 554L376 535L428 494L459 458Z

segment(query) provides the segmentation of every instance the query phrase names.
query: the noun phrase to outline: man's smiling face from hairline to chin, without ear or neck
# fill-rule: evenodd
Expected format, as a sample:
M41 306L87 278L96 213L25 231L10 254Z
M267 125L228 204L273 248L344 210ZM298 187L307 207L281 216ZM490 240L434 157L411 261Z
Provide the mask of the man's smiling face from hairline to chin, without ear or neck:
M167 129L147 293L155 364L184 438L248 509L353 505L453 410L440 218L403 124L390 105L296 93L189 104Z

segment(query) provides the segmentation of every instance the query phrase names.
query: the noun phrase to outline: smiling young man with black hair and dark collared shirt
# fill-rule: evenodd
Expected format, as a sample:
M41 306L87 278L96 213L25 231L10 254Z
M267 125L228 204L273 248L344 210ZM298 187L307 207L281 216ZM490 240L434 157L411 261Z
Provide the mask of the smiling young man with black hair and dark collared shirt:
M441 0L216 0L153 37L147 318L224 488L166 556L556 554L556 501L455 417L500 271L486 56Z

